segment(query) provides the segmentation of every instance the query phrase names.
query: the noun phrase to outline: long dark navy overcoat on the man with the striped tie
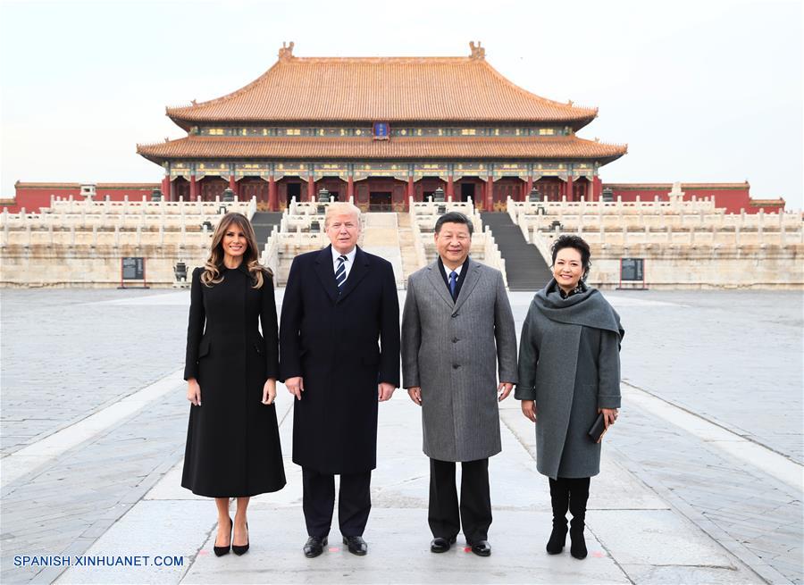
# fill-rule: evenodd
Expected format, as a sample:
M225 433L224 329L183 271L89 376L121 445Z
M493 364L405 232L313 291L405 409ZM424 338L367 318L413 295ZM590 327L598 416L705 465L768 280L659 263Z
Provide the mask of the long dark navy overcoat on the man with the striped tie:
M399 385L391 264L358 247L339 294L331 247L298 255L285 288L280 341L282 380L304 378L293 408L293 462L322 473L372 470L377 384Z

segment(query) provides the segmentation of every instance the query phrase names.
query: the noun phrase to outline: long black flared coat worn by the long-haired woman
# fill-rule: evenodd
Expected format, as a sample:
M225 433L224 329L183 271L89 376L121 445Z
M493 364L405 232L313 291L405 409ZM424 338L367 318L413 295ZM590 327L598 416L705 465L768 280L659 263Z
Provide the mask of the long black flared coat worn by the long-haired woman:
M253 288L241 264L207 287L202 273L193 272L184 368L201 405L190 406L181 485L206 497L276 491L285 485L276 408L261 402L265 380L279 374L271 276Z

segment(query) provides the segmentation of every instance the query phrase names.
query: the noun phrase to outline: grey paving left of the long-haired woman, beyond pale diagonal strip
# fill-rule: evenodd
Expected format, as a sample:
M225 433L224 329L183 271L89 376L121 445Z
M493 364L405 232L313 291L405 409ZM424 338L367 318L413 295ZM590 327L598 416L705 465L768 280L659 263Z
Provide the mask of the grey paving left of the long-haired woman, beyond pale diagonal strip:
M41 289L0 294L2 455L114 404L177 369L183 359L183 299L178 305L151 304L143 310L132 301L159 292ZM128 302L120 303L121 297Z

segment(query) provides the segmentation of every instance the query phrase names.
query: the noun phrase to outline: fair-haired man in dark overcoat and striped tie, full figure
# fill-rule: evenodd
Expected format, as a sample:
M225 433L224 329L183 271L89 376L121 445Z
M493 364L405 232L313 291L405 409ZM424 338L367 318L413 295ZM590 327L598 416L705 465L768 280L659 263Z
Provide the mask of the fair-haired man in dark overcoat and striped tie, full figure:
M331 245L290 266L280 324L281 377L297 398L293 463L301 465L308 557L338 520L349 552L365 555L377 460L377 403L399 385L399 301L391 264L357 247L360 210L328 206ZM379 341L379 346L378 346Z

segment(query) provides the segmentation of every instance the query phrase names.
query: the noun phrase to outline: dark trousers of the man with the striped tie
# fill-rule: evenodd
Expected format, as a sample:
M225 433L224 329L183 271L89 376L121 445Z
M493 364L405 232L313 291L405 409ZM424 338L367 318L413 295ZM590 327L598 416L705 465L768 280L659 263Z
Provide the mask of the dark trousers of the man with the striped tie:
M307 535L327 536L335 508L335 476L303 467L302 483ZM371 471L341 474L338 523L343 536L363 536L372 509L371 484Z

